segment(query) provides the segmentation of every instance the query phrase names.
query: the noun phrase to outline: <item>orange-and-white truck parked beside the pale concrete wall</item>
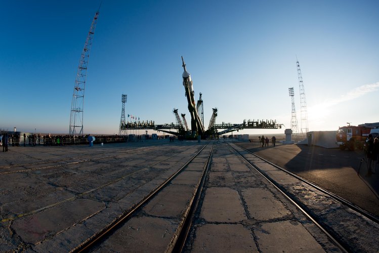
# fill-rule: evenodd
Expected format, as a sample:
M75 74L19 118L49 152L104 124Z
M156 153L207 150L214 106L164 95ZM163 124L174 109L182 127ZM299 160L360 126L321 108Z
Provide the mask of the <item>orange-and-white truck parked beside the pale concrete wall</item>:
M337 132L336 144L340 145L341 150L345 150L346 148L349 150L363 149L370 130L371 128L364 125L342 126Z

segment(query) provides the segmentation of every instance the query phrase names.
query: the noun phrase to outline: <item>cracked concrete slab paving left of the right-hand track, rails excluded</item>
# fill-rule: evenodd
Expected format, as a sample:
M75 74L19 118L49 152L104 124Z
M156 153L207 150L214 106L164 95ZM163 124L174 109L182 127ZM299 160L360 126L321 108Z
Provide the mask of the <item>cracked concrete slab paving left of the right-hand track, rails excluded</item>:
M0 251L72 250L141 201L203 145L167 141L10 149L0 159ZM95 251L170 248L206 159L194 160L173 181L174 188L161 191ZM207 179L185 251L339 252L223 142L215 144Z

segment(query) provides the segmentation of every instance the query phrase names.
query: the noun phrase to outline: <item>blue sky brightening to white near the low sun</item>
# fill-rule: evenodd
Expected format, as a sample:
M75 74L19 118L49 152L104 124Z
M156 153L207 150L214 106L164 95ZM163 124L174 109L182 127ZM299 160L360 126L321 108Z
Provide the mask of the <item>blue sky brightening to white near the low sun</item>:
M80 54L100 0L0 0L0 129L68 133ZM125 114L190 117L182 61L204 125L276 119L290 128L296 60L309 131L378 122L379 1L103 0L87 71L84 132L118 133ZM281 130L249 133L283 133Z

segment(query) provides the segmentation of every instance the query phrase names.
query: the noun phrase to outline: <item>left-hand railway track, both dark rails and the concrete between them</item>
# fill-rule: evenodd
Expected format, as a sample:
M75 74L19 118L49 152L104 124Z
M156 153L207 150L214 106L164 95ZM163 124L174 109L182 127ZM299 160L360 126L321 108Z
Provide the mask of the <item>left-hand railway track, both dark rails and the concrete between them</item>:
M119 245L119 237L122 237L123 233L128 233L128 230L130 230L130 226L133 226L130 225L130 223L133 223L133 221L129 222L130 219L141 219L139 217L145 216L147 212L157 212L155 214L145 216L150 218L150 226L159 224L161 217L171 219L172 222L172 226L170 226L170 228L172 229L171 238L168 238L169 240L161 240L160 242L162 243L157 242L158 240L155 241L156 244L154 244L153 247L150 248L150 250L160 251L159 249L164 249L164 251L182 251L188 233L190 231L191 224L193 222L194 214L199 204L200 196L205 183L205 178L209 169L210 160L212 159L212 152L214 147L212 146L206 148L207 146L210 145L206 145L203 148L201 148L201 150L199 150L199 152L197 152L176 173L167 178L149 195L144 197L139 203L133 206L133 208L123 213L122 216L120 216L114 222L104 227L101 231L99 231L92 237L88 238L88 240L86 240L85 242L78 245L75 249L72 250L72 252L87 252L98 250L101 251L103 248L106 248L107 251L117 251L120 250L119 247L122 248L120 251L127 250L128 246L125 244L128 244L128 242L121 241L122 244ZM185 173L187 175L184 175ZM182 177L179 178L179 175L182 175ZM188 180L185 179L186 177L191 178ZM172 200L166 199L166 194L170 193L175 195L174 192L183 191L183 186L185 186L185 188L189 191L187 191L184 196L181 196L182 201L178 200L179 202L182 202L181 204L184 205L181 205L180 207L177 206L179 208L176 209L177 213L173 212L171 209L169 210L164 208L160 210L151 211L151 209L154 209L154 207L151 206L163 206L165 204L170 204L170 201ZM176 197L178 197L178 195L176 195ZM146 239L149 240L150 238L134 238L133 240L144 241ZM146 245L149 245L149 243L145 243L145 246ZM144 249L140 250L144 251Z

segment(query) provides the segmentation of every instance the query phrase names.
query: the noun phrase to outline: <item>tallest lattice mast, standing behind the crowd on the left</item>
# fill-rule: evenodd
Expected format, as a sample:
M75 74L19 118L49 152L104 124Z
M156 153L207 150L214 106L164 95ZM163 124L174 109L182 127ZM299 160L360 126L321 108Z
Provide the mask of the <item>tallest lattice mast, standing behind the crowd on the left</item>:
M70 135L83 134L83 107L84 107L84 91L85 91L86 78L87 78L87 66L88 66L88 60L90 58L92 40L94 38L98 16L99 16L99 10L96 12L95 17L92 20L91 28L88 33L86 43L84 44L84 48L81 53L79 66L76 73L74 92L72 94L72 102L71 102L70 131L69 131Z

